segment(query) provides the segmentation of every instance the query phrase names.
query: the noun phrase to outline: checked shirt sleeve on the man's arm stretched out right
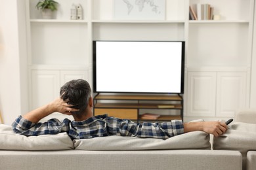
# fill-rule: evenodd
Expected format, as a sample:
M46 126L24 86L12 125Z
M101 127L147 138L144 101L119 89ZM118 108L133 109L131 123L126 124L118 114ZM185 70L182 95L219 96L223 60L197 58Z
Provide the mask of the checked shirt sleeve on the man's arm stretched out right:
M141 138L167 139L184 133L181 120L170 122L136 124L131 120L121 120L108 117L108 129L111 135L132 136Z

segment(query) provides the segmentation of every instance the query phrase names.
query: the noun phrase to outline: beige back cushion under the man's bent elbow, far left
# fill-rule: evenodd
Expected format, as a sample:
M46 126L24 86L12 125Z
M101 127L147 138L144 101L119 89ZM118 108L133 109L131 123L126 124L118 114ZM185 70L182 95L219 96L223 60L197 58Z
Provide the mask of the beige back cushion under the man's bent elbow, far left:
M74 143L67 133L26 137L16 134L11 126L0 125L0 150L69 150Z

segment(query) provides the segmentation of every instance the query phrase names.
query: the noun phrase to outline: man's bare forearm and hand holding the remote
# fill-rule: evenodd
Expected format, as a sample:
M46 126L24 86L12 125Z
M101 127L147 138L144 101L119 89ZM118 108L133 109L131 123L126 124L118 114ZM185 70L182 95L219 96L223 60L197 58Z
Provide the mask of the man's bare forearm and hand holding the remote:
M219 137L226 132L228 127L224 122L188 122L184 123L184 133L189 131L204 131Z

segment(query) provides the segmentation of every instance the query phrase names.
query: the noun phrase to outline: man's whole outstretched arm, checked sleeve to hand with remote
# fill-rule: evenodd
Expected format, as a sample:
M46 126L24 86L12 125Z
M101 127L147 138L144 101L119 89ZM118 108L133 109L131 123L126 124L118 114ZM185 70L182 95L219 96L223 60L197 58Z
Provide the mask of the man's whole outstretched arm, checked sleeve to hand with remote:
M112 135L133 136L133 137L150 137L158 139L167 139L182 133L190 131L204 131L216 137L226 132L226 124L223 122L187 122L181 120L171 120L170 122L151 123L143 122L136 124L130 120L121 120L118 118L108 117L105 119L108 124L109 133ZM113 126L114 124L114 126Z

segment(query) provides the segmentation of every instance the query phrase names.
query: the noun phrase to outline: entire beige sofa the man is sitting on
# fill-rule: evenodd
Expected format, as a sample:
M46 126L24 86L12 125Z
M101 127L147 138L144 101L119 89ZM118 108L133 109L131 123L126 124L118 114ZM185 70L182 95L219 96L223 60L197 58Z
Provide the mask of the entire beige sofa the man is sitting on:
M256 169L256 125L230 124L221 137L202 131L166 140L66 133L25 137L0 125L0 169ZM236 137L237 135L237 137Z

